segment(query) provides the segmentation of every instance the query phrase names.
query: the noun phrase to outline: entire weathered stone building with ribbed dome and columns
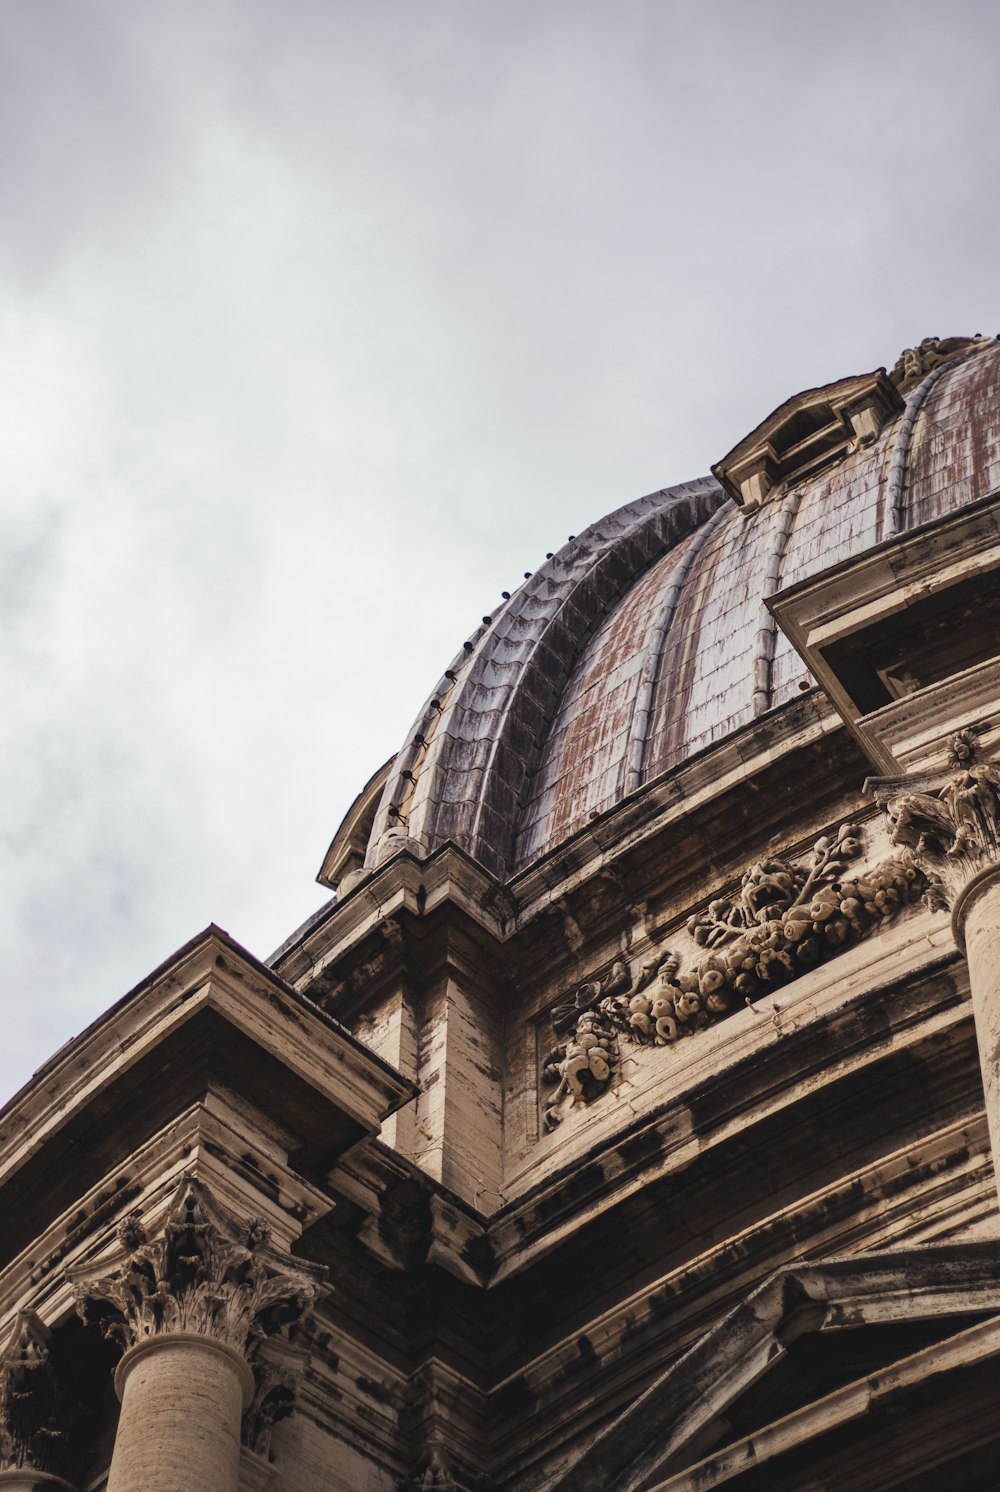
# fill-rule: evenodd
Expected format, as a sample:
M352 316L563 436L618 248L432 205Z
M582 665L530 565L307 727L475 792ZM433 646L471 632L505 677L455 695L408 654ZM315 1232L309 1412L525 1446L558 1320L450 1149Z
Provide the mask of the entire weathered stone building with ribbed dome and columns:
M999 1486L999 489L928 339L484 618L0 1115L0 1488Z

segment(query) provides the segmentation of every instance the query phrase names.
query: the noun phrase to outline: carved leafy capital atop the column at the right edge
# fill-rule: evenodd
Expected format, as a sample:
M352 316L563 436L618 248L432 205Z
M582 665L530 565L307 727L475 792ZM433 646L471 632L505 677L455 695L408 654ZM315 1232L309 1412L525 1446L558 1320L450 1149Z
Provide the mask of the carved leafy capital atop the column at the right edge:
M906 844L942 901L954 907L973 876L1000 865L1000 762L979 759L972 731L949 743L951 771L869 777L893 841Z

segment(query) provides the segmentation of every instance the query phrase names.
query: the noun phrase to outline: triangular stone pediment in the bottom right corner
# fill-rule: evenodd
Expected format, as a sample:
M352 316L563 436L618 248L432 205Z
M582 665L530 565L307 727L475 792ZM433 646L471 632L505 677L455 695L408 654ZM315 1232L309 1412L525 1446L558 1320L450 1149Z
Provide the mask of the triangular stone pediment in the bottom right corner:
M867 1391L858 1383L882 1374L919 1392L924 1368L927 1377L939 1374L942 1358L960 1370L966 1356L1000 1356L999 1264L1000 1246L988 1241L779 1271L673 1362L546 1492L679 1492L687 1473L691 1488L730 1480L742 1488L746 1455L737 1447L760 1441L784 1455L839 1425L846 1440L861 1434L857 1422L867 1408L858 1394ZM948 1346L952 1340L957 1349ZM715 1471L701 1482L709 1461Z

